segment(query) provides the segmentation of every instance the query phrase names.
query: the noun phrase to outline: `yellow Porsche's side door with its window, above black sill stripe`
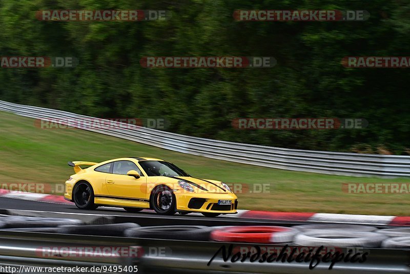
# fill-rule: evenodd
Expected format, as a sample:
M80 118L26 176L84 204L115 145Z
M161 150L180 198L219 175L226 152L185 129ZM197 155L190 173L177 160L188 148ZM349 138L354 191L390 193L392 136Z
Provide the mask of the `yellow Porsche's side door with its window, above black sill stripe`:
M146 189L146 177L141 170L131 161L116 161L113 164L112 174L107 174L106 186L110 196L115 198L144 199ZM127 172L136 170L140 177L136 179L128 176ZM115 198L114 198L115 197Z

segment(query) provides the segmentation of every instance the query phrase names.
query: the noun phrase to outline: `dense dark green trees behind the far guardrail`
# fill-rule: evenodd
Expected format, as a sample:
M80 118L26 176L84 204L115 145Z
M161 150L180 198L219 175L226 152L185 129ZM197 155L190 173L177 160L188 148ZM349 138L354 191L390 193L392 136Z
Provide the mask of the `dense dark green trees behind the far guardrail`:
M320 3L320 4L319 4ZM168 21L43 22L44 9L165 9ZM235 9L365 9L365 22L237 22ZM0 99L99 117L165 118L167 130L234 142L404 154L409 69L343 56L406 56L405 1L2 0L0 55L75 56L76 68L0 68ZM143 56L274 56L265 69L158 69ZM237 130L235 118L364 118L357 130Z

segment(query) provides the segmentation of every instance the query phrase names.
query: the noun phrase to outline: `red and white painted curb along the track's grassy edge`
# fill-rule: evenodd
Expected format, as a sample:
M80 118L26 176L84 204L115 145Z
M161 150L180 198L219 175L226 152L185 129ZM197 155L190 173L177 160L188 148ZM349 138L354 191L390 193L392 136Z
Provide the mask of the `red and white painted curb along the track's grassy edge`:
M12 191L0 189L0 197L14 198L29 201L48 202L56 204L73 203L64 199L63 196ZM152 210L146 210L152 211ZM354 214L334 214L334 213L313 213L313 212L275 212L260 210L238 209L237 214L226 214L224 217L262 219L275 221L296 221L296 222L323 222L340 224L361 224L361 225L389 225L389 226L410 226L410 217L378 216L378 215L354 215ZM202 216L200 213L190 215Z

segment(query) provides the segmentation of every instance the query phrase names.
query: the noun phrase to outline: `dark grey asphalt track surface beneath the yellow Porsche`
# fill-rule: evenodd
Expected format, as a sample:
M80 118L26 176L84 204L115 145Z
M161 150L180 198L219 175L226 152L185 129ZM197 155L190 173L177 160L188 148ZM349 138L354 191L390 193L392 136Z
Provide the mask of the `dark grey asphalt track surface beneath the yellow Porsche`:
M190 213L181 215L175 213L174 215L161 215L154 210L143 210L138 213L131 213L125 211L123 208L116 207L98 207L96 210L84 210L77 208L74 204L58 204L44 201L30 201L16 198L0 197L0 214L7 215L22 215L32 217L53 217L53 218L77 218L87 219L87 216L101 216L113 217L114 222L133 222L141 226L156 226L156 225L205 225L205 226L221 226L221 225L279 225L279 226L293 226L302 224L355 224L346 222L346 220L298 220L298 219L283 219L279 218L264 219L256 214L254 218L247 214L246 217L238 210L238 214L225 214L215 218L204 217L201 213ZM243 210L246 211L246 210ZM242 211L242 213L243 213ZM279 212L280 213L280 212ZM285 213L285 212L283 212ZM243 217L242 217L243 216ZM346 217L347 219L349 216ZM368 218L376 218L375 216L368 216ZM371 219L366 219L367 222ZM373 219L372 219L373 220ZM87 221L87 220L85 220ZM348 221L348 220L347 220ZM379 228L394 227L389 222L371 222L365 225L376 226Z

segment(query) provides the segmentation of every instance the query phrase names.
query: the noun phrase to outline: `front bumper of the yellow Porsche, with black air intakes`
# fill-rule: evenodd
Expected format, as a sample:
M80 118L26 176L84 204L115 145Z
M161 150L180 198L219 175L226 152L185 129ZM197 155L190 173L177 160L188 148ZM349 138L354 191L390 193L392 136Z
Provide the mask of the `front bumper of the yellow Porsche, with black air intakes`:
M236 213L238 198L234 193L177 193L176 209L189 212ZM230 200L231 205L218 205L219 200Z

